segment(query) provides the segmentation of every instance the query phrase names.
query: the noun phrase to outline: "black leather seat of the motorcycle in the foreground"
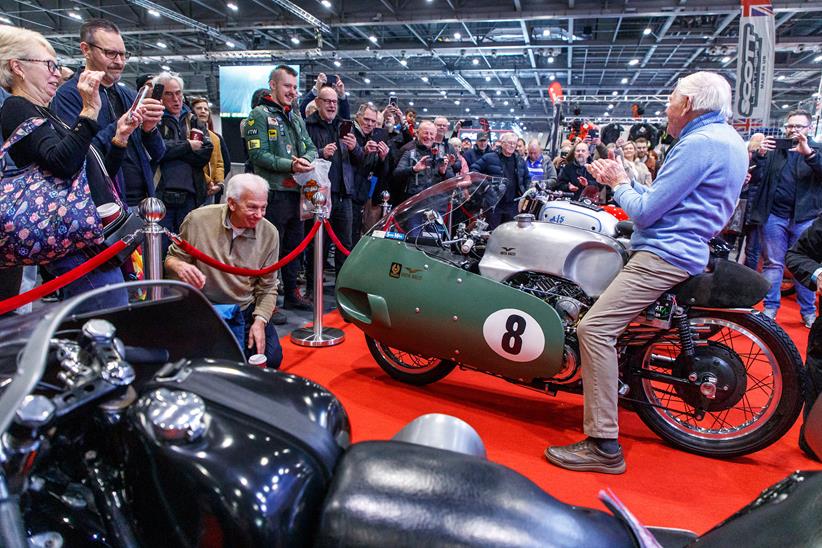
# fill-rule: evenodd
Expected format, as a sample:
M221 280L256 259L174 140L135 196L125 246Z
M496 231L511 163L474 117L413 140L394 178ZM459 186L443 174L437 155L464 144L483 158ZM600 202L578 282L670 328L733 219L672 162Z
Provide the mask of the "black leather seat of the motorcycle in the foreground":
M634 540L617 518L563 504L499 464L372 441L340 459L315 545L627 547Z

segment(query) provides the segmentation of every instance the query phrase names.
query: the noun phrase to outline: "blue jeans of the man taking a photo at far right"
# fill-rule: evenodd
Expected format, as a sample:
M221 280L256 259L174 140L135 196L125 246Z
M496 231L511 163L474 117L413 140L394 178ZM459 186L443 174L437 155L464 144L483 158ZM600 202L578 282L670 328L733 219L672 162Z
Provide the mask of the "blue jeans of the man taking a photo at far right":
M769 215L762 227L762 257L764 265L762 274L771 282L771 288L765 296L765 308L779 308L781 298L782 275L785 270L785 253L793 247L813 219L796 223L776 215ZM802 284L796 286L796 300L803 316L816 314L816 294Z

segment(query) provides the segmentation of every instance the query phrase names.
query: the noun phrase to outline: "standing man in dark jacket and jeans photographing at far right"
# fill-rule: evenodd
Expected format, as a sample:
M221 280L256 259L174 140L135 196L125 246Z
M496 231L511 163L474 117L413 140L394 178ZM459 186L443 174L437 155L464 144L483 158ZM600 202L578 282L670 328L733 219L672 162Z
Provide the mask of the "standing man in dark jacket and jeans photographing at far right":
M785 253L822 213L822 158L820 145L808 138L811 114L795 110L785 118L786 145L766 137L754 155L750 187L756 189L751 223L760 227L762 274L771 282L765 296L765 315L775 318L781 300ZM783 141L784 142L784 141ZM795 143L795 144L794 144ZM816 319L814 292L796 285L802 323L809 328Z

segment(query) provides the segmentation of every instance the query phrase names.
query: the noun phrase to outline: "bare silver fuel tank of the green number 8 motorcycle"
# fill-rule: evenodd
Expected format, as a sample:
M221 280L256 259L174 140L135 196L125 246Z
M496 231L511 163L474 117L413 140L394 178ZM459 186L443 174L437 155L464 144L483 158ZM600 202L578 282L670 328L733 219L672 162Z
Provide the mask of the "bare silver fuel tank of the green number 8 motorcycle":
M599 297L627 261L625 249L613 238L532 219L520 215L491 233L480 274L502 282L519 272L543 272L576 283L589 297Z

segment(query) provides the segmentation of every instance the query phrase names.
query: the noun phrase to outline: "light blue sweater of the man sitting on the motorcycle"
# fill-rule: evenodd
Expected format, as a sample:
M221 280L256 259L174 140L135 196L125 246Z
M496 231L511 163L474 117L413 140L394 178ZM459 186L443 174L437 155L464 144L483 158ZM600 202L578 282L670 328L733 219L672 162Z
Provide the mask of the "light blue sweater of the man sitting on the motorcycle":
M631 248L649 251L692 275L708 264L708 240L733 213L748 152L719 112L691 120L653 185L620 185L614 199L634 222Z

